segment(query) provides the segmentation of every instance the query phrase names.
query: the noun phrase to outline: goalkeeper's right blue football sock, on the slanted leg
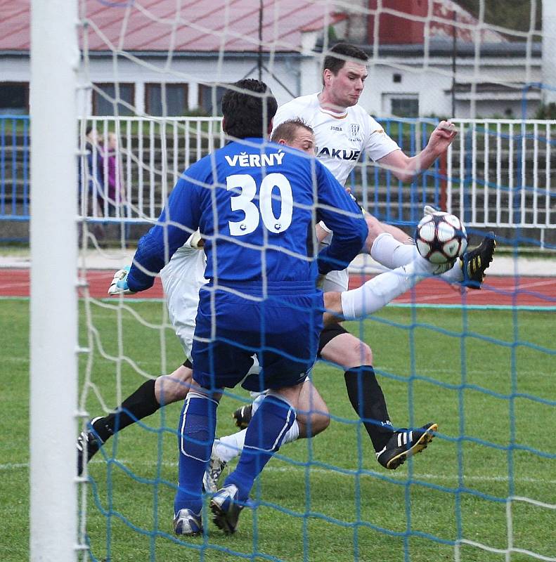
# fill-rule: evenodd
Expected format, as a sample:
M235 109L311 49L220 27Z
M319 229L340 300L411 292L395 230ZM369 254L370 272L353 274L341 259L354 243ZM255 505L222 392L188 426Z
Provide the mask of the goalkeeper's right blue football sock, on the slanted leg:
M294 421L295 410L285 400L272 395L264 398L247 426L245 445L238 466L224 484L235 484L238 487L238 499L241 502L249 497L255 478L280 448Z

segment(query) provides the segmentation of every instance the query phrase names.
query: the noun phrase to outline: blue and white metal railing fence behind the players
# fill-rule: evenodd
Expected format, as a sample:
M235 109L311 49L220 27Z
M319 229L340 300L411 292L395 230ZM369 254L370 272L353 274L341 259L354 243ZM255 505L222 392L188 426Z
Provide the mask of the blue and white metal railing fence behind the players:
M556 192L551 177L556 122L453 122L458 136L446 155L411 185L363 158L347 182L363 207L380 220L401 226L418 222L427 203L458 214L475 228L536 228L541 237L545 230L555 229ZM121 201L114 202L107 190L98 190L91 202L90 178L82 177L81 191L76 189L79 214L92 222L129 225L155 220L181 171L224 143L218 117L164 121L89 117L87 124L103 138L117 133L116 169L110 172L106 164L98 164L98 173L104 185L108 185L109 174L115 174L124 194ZM382 125L406 154L415 155L427 145L436 122L383 119ZM105 146L93 145L95 161ZM80 148L84 159L84 139ZM30 218L29 154L29 117L0 115L0 220ZM82 169L86 167L82 162Z

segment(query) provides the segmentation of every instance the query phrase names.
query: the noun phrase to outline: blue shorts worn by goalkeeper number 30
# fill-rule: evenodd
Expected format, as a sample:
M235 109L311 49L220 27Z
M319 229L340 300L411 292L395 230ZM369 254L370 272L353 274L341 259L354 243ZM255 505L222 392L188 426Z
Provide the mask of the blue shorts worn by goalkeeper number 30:
M316 360L323 327L322 292L311 282L268 284L261 300L259 285L234 284L232 289L241 294L211 285L200 289L193 379L205 388L233 388L245 378L256 354L261 373L246 379L247 390L304 381Z

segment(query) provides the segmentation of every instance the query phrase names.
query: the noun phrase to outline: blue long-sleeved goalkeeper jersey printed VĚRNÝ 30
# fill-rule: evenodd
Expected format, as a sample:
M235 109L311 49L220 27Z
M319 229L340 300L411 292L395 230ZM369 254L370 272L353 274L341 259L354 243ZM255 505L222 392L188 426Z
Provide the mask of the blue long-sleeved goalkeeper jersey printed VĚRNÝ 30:
M315 260L318 221L334 231ZM129 288L153 285L169 257L200 228L205 277L237 282L302 282L347 267L363 247L366 221L354 201L316 159L299 150L248 138L228 143L184 172L157 224L141 238Z

